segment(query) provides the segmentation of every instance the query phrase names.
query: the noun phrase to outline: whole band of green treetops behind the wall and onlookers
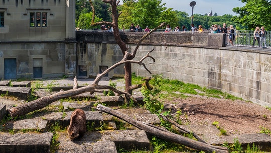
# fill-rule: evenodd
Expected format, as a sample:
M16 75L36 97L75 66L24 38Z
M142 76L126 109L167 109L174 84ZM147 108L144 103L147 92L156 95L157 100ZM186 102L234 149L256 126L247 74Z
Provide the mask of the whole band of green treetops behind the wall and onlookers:
M239 1L239 0L236 0ZM246 5L242 8L234 8L233 12L238 16L225 14L223 16L207 16L207 14L194 14L193 23L196 27L202 25L203 28L209 29L211 25L222 25L226 23L228 26L233 25L238 30L253 29L255 26L265 26L270 29L271 22L269 20L270 0L241 0ZM110 6L103 3L101 0L92 0L95 9L96 21L111 22ZM170 24L172 28L186 26L191 29L191 17L186 12L166 8L162 0L124 0L122 5L118 5L118 12L121 15L118 18L118 26L128 29L130 24L139 24L143 29L149 26L151 29L165 22ZM92 8L89 0L76 0L76 26L79 28L94 28L90 27L90 12ZM84 14L84 15L83 15ZM81 16L81 17L80 17ZM80 18L80 19L79 19ZM84 21L86 20L86 21ZM83 27L82 27L83 26ZM163 27L165 29L165 27Z

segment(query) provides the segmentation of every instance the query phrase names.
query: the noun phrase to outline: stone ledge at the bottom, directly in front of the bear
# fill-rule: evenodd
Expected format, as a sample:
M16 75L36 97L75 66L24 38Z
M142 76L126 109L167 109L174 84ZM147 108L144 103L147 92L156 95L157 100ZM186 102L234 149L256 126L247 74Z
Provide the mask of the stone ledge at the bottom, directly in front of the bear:
M61 133L59 141L58 152L72 151L75 148L76 152L116 152L121 148L150 149L150 141L143 130L87 131L80 140L75 141L70 141L67 133Z

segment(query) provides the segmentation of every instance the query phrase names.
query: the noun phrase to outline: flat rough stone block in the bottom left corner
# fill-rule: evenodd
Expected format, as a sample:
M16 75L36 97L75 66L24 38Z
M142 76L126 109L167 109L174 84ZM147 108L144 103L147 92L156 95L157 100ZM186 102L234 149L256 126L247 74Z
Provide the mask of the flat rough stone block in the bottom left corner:
M1 133L0 152L50 152L53 133Z

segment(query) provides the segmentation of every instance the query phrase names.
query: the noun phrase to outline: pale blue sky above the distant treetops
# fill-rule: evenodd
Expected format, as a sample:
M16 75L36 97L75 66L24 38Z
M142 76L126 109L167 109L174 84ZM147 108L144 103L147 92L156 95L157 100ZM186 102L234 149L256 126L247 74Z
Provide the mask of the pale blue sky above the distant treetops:
M245 4L241 3L239 0L162 0L162 4L166 3L165 7L173 8L173 10L186 12L189 16L192 14L192 7L190 7L190 2L195 1L193 14L204 15L212 10L212 13L217 13L218 16L223 16L224 14L230 14L236 16L232 12L233 8L243 7Z

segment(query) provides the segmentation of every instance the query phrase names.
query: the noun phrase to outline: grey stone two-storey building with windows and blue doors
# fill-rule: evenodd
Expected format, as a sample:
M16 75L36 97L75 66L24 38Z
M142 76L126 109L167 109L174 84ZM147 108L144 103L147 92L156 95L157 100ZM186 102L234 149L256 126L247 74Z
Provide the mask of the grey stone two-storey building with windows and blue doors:
M0 1L1 80L75 74L75 1Z

